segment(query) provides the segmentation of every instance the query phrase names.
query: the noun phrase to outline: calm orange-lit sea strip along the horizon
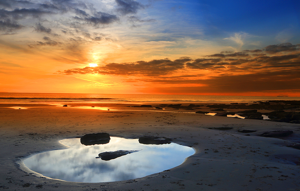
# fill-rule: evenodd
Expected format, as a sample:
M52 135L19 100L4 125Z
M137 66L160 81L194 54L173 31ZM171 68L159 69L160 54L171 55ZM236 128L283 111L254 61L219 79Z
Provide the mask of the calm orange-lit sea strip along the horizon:
M0 103L252 103L253 101L266 100L300 100L300 97L89 93L0 93Z

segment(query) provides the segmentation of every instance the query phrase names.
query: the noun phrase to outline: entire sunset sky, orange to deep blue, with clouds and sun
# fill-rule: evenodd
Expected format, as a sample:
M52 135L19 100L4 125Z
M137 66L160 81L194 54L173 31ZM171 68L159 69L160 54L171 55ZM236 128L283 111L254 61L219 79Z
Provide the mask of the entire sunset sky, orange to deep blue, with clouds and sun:
M300 1L0 0L0 92L300 97Z

